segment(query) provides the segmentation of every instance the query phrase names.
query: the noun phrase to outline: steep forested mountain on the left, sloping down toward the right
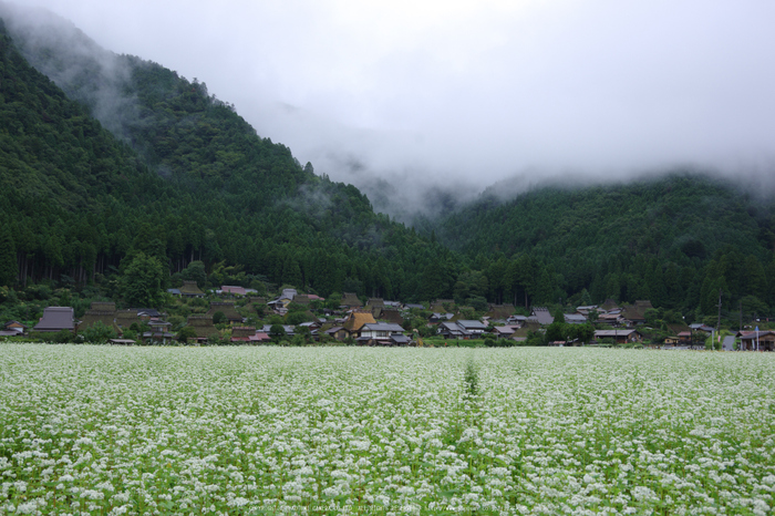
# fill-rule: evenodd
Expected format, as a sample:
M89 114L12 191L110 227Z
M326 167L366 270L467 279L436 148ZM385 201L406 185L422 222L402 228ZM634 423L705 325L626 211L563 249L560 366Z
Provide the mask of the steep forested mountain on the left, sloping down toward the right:
M32 50L49 63L42 68L66 63L54 47ZM100 73L64 74L81 84L71 93L82 97L76 103L4 31L1 51L0 217L19 283L91 281L143 252L170 272L193 260L225 261L241 267L246 281L323 296L441 293L421 272L443 269L446 249L375 215L356 188L302 167L204 84L116 56L127 72L121 87L136 102L120 102L130 116L108 124L112 135L90 116L97 103L87 93L101 90L89 81Z

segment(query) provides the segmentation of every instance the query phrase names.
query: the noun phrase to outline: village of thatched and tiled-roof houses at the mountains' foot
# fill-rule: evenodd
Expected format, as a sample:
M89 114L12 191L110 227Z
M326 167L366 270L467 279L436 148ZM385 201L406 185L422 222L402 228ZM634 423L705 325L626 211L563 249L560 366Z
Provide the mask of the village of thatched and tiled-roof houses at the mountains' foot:
M457 307L451 299L424 305L381 298L368 298L364 302L349 292L332 307L317 295L299 293L293 288L282 289L273 299L256 293L240 286L221 286L205 292L196 281L184 281L182 287L168 289L168 295L178 305L196 307L185 320L179 316L168 317L157 309L116 309L115 302L95 301L80 319L72 307L48 307L32 328L20 321L6 321L0 339L29 337L46 341L49 336L59 336L52 340L121 345L478 343L659 349L705 349L706 343L713 341L717 342L714 349L724 351L773 351L775 348L775 331L758 331L758 328L725 331L722 339L715 328L704 323L658 321L661 331L655 333L649 312L653 316L657 310L650 301L621 307L612 300L601 306L579 306L572 311L561 310L559 320L560 313L557 310L552 313L546 307L534 307L529 314L520 314L525 310L512 305L489 305L485 313L476 317L473 309ZM300 317L289 317L291 312ZM561 334L575 338L551 338L558 334L552 331L557 328L565 330ZM72 336L72 339L62 336Z

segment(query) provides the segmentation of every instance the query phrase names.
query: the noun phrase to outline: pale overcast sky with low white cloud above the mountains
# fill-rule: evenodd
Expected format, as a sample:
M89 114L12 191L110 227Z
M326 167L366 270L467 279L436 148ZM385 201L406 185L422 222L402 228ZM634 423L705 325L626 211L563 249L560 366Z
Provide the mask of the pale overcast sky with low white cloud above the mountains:
M206 82L339 180L775 171L772 0L21 3Z

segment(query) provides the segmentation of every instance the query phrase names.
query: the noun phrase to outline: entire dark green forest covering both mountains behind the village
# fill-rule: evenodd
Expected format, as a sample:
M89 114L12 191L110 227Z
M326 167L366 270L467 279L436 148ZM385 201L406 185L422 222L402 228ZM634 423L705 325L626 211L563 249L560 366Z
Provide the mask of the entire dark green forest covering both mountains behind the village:
M256 134L197 80L32 41L0 25L0 301L70 289L161 302L127 278L161 292L202 262L213 281L323 297L649 299L691 319L715 313L720 291L728 313L775 306L773 205L721 179L485 192L415 230Z

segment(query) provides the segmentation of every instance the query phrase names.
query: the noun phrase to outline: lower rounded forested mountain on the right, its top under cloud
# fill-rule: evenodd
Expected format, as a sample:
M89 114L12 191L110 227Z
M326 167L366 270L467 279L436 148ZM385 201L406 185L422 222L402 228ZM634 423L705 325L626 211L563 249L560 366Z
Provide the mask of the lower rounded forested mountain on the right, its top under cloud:
M518 300L537 291L538 260L554 296L650 299L682 311L714 313L744 301L766 313L775 303L775 206L733 183L678 172L627 184L545 186L502 202L493 192L434 227L489 280L489 297ZM546 295L542 297L546 298Z

